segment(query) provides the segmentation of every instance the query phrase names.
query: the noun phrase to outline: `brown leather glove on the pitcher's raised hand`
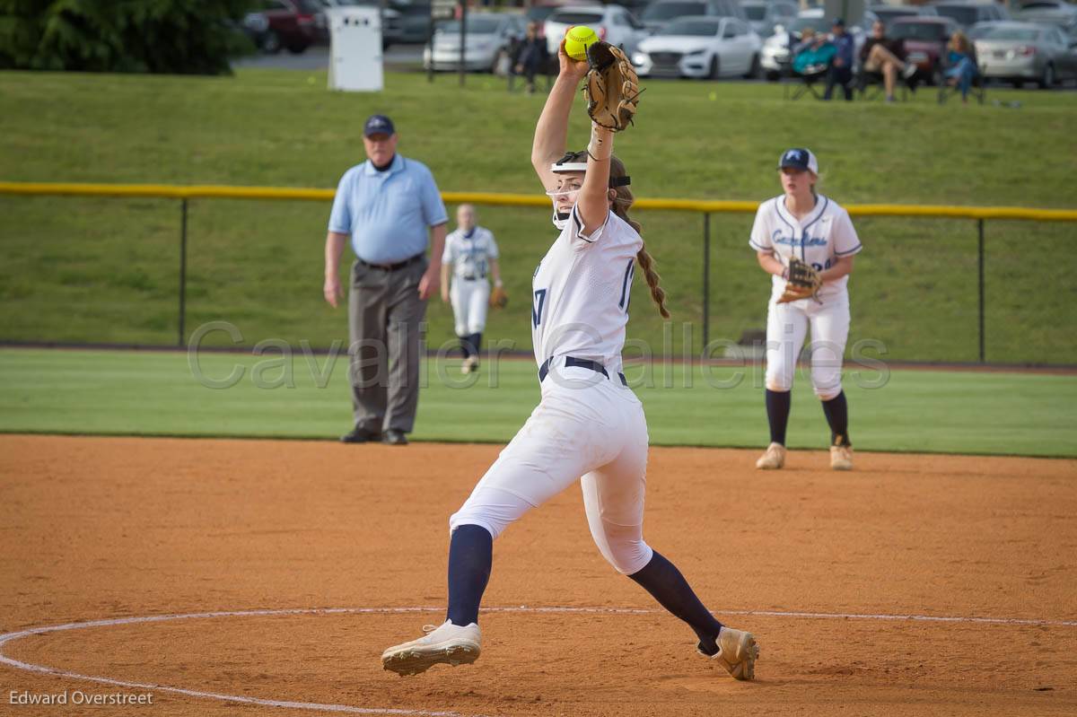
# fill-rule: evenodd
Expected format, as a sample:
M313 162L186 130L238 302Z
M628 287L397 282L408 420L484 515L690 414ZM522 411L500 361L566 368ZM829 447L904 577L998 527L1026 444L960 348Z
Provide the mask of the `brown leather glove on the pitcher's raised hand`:
M599 127L618 132L627 129L639 104L640 78L628 57L609 42L596 42L587 47L587 114Z

